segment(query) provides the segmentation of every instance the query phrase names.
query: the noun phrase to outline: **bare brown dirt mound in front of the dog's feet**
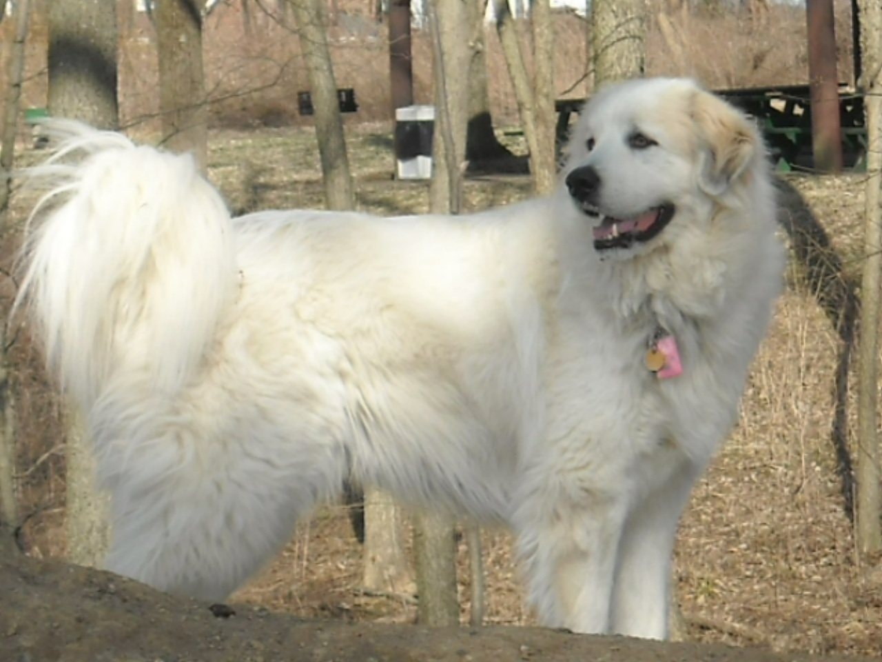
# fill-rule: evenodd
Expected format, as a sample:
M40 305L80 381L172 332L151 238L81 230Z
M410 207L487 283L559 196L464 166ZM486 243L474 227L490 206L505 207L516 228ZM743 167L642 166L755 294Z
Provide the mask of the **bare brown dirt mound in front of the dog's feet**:
M23 556L0 560L0 596L0 659L9 662L857 660L542 628L306 621L261 607L173 598L109 573Z

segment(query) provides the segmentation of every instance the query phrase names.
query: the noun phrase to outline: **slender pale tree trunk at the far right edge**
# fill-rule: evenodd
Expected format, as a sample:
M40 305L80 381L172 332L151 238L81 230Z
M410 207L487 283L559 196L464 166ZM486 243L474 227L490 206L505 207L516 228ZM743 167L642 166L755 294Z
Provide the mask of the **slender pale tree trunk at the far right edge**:
M882 550L882 507L878 449L878 323L882 286L882 5L862 0L864 112L867 124L867 176L864 211L861 345L858 365L856 538L864 555Z

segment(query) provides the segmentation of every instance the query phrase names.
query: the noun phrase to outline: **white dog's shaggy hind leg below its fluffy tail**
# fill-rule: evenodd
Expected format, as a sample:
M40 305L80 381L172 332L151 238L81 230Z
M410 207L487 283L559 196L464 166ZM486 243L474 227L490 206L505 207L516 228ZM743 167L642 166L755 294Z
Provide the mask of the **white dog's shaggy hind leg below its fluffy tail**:
M99 455L112 494L107 568L178 595L221 600L339 493L340 446L281 434L190 439L180 430ZM125 455L123 455L125 454Z

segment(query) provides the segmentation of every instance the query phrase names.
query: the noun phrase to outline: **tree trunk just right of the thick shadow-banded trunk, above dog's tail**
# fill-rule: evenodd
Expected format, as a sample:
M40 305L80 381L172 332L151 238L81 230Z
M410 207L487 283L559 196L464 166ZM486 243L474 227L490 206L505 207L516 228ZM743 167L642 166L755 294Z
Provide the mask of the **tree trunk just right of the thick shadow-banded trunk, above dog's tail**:
M175 152L191 152L199 169L208 162L208 106L202 65L203 0L162 0L155 4L160 64L162 142Z

